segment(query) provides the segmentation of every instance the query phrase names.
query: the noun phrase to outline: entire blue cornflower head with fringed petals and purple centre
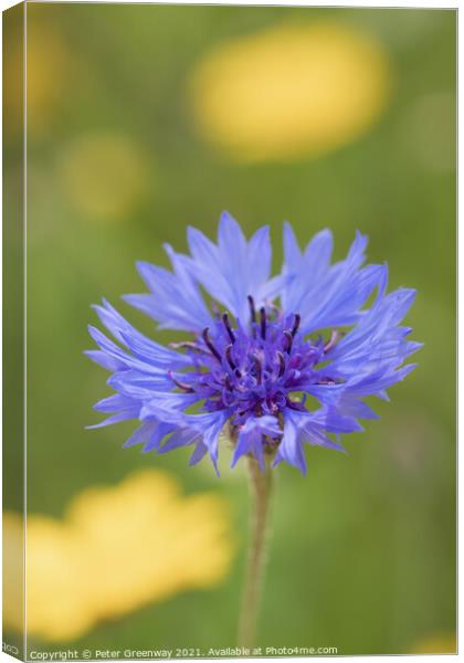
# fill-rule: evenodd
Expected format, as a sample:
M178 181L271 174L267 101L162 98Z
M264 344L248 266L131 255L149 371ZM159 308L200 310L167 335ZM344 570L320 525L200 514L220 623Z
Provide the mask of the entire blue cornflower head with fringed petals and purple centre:
M139 420L125 446L192 446L191 464L209 453L217 469L224 432L232 465L249 455L262 469L268 457L305 473L305 443L342 450L340 433L377 418L362 399L388 399L386 389L414 368L402 365L421 344L399 325L415 291L387 294L388 267L363 266L360 233L330 264L329 230L302 251L285 224L284 264L273 278L268 228L246 241L223 213L218 244L193 228L188 242L190 255L165 246L172 271L138 263L149 293L124 297L160 328L184 332L184 341L160 346L106 301L95 306L116 340L89 327L99 349L87 354L112 371L116 391L96 403L110 414L97 427Z

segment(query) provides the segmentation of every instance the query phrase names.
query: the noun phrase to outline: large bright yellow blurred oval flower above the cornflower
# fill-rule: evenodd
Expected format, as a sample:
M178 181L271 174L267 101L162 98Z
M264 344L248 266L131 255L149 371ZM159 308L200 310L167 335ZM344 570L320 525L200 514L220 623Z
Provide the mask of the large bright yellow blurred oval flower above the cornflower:
M191 80L200 133L236 160L329 152L361 136L389 98L389 62L369 34L325 21L220 44Z

